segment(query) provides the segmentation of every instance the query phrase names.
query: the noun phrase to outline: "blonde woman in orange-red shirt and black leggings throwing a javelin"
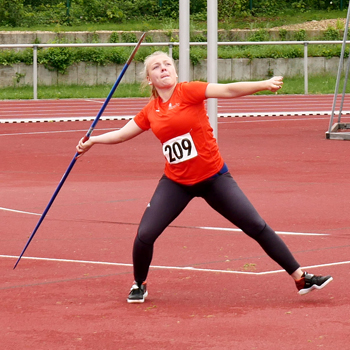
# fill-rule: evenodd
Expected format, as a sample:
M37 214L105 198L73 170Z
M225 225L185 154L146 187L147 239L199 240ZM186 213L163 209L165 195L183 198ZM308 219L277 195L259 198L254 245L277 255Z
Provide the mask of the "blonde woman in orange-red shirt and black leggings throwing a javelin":
M134 241L135 281L127 301L144 302L154 243L194 197L202 197L256 240L295 280L299 294L321 289L331 282L331 276L315 276L301 270L282 239L238 187L220 155L204 105L207 98L236 98L263 90L276 92L282 87L283 78L229 84L178 83L174 61L164 52L147 57L144 73L152 88L149 103L120 130L92 136L86 142L81 139L77 145L77 152L83 154L95 144L117 144L151 129L163 147L165 171Z

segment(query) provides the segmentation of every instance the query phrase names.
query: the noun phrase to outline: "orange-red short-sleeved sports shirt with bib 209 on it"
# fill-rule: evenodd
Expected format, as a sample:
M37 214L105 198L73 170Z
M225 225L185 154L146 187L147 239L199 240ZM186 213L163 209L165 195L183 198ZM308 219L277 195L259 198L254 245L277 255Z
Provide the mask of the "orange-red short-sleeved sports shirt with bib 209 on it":
M165 175L193 185L220 171L224 161L204 106L208 83L178 83L169 101L151 100L134 118L163 145Z

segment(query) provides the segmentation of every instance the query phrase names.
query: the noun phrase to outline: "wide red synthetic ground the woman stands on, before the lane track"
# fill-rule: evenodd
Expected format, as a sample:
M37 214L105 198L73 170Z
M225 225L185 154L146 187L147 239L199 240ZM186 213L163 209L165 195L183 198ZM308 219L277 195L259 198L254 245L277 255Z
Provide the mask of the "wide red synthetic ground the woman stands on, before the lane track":
M164 166L152 133L79 159L13 270L91 123L1 124L1 347L347 349L350 144L326 140L328 123L327 115L218 122L233 176L302 266L334 277L327 288L299 296L255 242L195 199L157 241L142 305L126 295L137 224ZM124 124L102 120L95 132Z

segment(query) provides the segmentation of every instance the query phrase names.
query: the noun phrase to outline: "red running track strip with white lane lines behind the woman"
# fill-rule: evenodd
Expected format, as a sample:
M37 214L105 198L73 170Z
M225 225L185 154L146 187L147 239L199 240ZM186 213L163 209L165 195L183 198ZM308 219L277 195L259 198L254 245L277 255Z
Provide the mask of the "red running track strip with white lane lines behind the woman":
M329 115L333 95L254 95L233 100L218 100L220 117L269 115ZM147 98L111 99L101 120L130 119L147 103ZM0 101L0 123L93 120L104 100L26 100ZM339 110L341 98L337 99ZM350 114L345 99L343 114Z

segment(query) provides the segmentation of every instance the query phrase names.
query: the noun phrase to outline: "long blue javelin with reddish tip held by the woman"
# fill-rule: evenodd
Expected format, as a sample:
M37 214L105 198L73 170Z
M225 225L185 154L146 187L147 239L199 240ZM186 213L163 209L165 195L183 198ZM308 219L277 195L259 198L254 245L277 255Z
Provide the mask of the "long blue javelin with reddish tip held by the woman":
M105 108L107 107L108 102L109 102L110 99L112 98L112 96L113 96L113 94L114 94L114 92L115 92L117 86L119 85L119 83L120 83L120 81L122 80L122 78L123 78L123 76L124 76L126 70L127 70L128 67L129 67L131 61L133 60L134 56L136 55L136 52L137 52L137 50L139 49L139 47L140 47L140 45L141 45L141 43L142 43L142 41L143 41L145 35L146 35L146 33L143 33L143 34L141 35L140 40L138 41L138 43L137 43L136 47L134 48L133 52L131 53L131 55L130 55L128 61L125 63L125 65L124 65L122 71L120 72L120 74L119 74L119 76L118 76L116 82L114 83L114 85L113 85L113 87L112 87L112 90L111 90L110 93L108 94L108 96L107 96L105 102L103 103L103 105L102 105L100 111L98 112L96 118L94 119L93 123L91 124L90 129L88 130L88 132L87 132L86 135L84 136L83 142L86 142L86 141L90 138L90 136L91 136L92 132L94 131L94 128L95 128L97 122L99 121L99 119L100 119L100 117L101 117L103 111L104 111ZM54 194L53 194L53 196L52 196L52 198L51 198L49 204L47 205L47 207L46 207L46 209L44 210L44 212L42 213L42 215L41 215L41 217L40 217L38 223L36 224L33 233L32 233L31 236L29 237L27 244L26 244L25 247L23 248L22 253L21 253L21 255L19 256L19 258L18 258L18 260L17 260L15 266L13 267L13 269L15 269L16 266L18 265L18 263L19 263L19 261L21 260L21 258L22 258L22 256L23 256L24 252L26 251L26 249L27 249L28 246L29 246L29 243L31 242L31 240L33 239L33 237L34 237L36 231L38 230L38 228L40 227L41 223L43 222L43 220L44 220L44 218L45 218L47 212L48 212L49 209L51 208L52 203L54 202L56 196L58 195L58 192L60 191L61 187L63 186L64 182L66 181L66 179L67 179L69 173L70 173L71 170L73 169L73 166L74 166L74 164L75 164L75 162L76 162L78 156L79 156L79 153L76 152L75 155L74 155L74 157L73 157L73 159L72 159L72 161L71 161L71 163L69 164L69 166L68 166L66 172L63 174L63 177L62 177L61 181L59 182L59 184L58 184L58 186L57 186L57 188L56 188L56 191L54 192Z

